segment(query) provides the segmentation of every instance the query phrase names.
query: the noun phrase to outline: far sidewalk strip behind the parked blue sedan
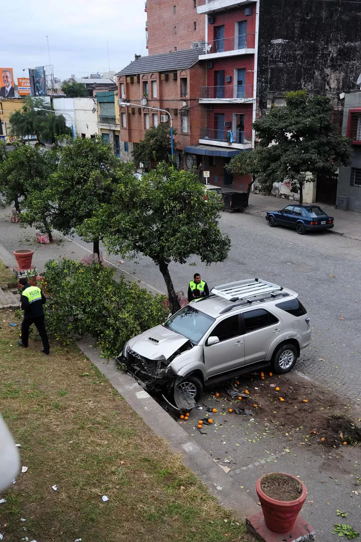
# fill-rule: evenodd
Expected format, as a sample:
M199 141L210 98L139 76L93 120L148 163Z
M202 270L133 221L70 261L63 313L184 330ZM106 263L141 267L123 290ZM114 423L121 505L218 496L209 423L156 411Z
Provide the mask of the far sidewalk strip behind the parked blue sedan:
M248 201L249 207L245 210L250 215L255 215L264 218L266 211L275 211L283 209L286 205L293 203L284 198L275 198L273 196L262 196L261 194L250 193ZM297 202L294 202L295 204ZM324 205L323 203L315 203L323 209L327 215L333 216L334 227L328 230L328 233L343 235L351 239L361 241L361 213L342 211L335 209L333 205Z

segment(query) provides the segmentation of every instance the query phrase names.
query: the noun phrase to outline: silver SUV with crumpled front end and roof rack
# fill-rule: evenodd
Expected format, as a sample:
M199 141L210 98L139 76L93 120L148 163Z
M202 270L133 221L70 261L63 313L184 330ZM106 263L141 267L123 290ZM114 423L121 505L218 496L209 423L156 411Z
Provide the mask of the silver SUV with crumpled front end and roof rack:
M268 365L277 373L292 369L311 340L310 318L297 298L260 279L217 286L130 339L117 361L147 391L192 408L204 386Z

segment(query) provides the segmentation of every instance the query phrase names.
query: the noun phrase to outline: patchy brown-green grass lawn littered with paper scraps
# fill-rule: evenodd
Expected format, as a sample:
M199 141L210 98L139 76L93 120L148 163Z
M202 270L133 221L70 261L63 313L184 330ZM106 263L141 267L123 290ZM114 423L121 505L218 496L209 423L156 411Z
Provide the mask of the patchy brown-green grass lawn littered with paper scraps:
M253 540L82 353L21 349L20 322L0 312L0 411L28 467L0 495L4 542Z

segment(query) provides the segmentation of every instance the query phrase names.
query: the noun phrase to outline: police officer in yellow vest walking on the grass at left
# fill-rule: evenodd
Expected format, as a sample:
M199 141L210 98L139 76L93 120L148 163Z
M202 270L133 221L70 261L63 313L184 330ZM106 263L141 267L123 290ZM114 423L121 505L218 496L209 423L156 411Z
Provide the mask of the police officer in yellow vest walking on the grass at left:
M17 341L19 346L28 347L29 328L31 324L35 324L43 341L44 354L49 354L49 340L45 330L43 305L47 302L47 298L37 286L30 286L27 279L19 279L19 283L23 286L21 291L21 309L24 311L24 319L21 324L21 340Z

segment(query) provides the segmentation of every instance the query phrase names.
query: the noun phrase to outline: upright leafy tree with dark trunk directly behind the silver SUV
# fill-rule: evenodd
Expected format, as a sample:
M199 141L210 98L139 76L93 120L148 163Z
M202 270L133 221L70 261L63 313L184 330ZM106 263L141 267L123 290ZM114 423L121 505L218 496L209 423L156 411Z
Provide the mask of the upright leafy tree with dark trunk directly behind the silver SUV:
M206 264L221 262L231 246L218 225L222 199L218 194L209 194L207 200L204 196L205 189L192 171L174 171L160 164L142 179L123 175L111 202L86 220L81 230L102 231L113 253L149 256L163 275L174 313L180 307L169 263L186 263L192 256Z

